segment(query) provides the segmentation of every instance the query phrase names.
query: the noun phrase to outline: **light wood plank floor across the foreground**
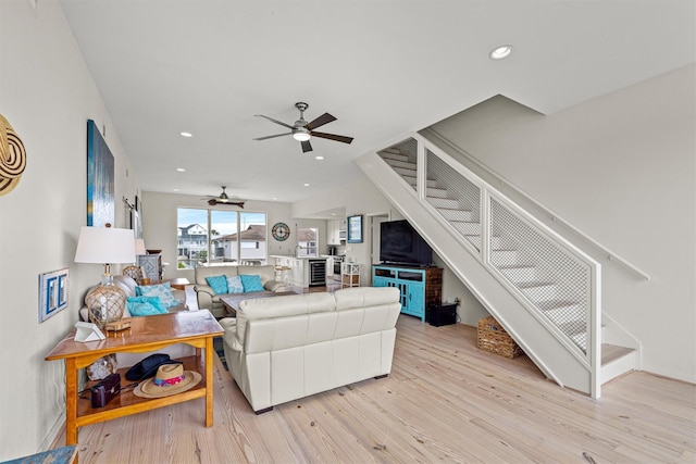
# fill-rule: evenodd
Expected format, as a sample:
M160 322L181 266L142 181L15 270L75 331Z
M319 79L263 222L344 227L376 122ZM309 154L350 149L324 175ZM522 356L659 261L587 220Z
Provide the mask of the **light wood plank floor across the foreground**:
M79 462L696 461L694 385L632 373L592 400L546 380L526 358L477 350L474 327L401 315L397 328L387 378L259 416L215 359L213 427L203 426L202 399L86 426Z

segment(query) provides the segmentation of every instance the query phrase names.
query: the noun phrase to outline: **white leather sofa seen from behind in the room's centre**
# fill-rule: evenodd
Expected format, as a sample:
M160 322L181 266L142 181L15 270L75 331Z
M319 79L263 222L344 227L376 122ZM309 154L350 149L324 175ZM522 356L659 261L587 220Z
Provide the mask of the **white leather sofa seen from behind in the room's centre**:
M274 405L391 372L395 288L355 287L246 300L224 318L224 350L257 414Z

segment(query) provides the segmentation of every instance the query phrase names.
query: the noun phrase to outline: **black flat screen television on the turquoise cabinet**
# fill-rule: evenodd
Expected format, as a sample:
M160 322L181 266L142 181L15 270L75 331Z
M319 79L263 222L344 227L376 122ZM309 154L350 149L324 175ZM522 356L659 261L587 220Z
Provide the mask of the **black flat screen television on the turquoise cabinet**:
M380 261L384 264L430 266L433 250L408 221L390 221L381 225Z

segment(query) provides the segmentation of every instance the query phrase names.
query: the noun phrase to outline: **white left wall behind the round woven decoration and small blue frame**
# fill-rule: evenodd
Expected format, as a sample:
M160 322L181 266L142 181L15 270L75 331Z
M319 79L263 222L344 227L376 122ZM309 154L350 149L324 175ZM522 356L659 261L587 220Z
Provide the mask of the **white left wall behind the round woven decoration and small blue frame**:
M0 197L0 461L46 449L64 421L62 362L44 358L78 319L99 265L73 262L87 222L87 120L107 127L115 158L116 227L138 183L58 2L0 1L0 113L27 166ZM38 323L38 275L70 267L69 308Z

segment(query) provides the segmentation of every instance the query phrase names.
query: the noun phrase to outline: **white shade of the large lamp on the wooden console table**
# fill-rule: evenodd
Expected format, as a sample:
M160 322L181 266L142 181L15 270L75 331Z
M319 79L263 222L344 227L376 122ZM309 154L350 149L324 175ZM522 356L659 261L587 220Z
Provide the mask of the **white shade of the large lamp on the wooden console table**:
M135 236L130 229L83 227L79 229L76 263L133 263Z

